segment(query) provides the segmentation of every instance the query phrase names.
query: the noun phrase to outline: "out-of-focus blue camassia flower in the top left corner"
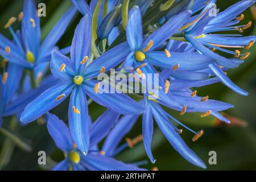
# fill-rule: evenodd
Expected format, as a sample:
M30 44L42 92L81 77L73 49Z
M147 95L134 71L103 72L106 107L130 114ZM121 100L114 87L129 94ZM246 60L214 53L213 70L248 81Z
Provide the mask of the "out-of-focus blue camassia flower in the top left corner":
M10 42L0 34L0 55L10 63L33 69L35 77L40 77L46 72L51 60L51 51L56 49L56 43L64 34L69 22L71 22L73 15L76 13L76 8L71 7L66 11L42 43L40 43L39 11L41 10L36 11L34 0L24 1L23 11L18 15L18 20L22 22L21 31L15 33L11 28L11 24L17 19L16 17L11 17L5 24L5 28L9 28L14 42ZM69 52L69 48L64 48L61 52L66 54Z

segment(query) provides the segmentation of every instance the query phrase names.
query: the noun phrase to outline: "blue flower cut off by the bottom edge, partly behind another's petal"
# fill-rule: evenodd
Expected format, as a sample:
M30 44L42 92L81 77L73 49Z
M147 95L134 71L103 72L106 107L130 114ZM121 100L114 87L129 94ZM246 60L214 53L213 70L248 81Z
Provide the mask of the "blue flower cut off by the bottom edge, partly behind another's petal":
M56 143L56 146L65 154L65 159L53 167L52 170L144 170L131 164L125 164L115 160L111 156L106 155L105 151L98 150L98 142L108 134L113 123L117 122L119 117L118 114L111 110L105 111L102 116L103 117L100 116L90 127L90 141L92 145L89 148L88 154L85 156L81 151L77 150L76 144L73 143L71 133L65 123L55 115L50 113L47 114L48 132Z

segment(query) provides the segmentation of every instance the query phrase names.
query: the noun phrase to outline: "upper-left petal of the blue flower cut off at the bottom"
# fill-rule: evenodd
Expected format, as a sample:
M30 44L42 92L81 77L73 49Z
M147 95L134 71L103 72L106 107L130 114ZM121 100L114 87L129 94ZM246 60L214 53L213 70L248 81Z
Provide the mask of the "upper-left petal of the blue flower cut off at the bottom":
M68 127L56 115L47 113L47 129L57 147L62 151L69 152L73 148L73 139Z

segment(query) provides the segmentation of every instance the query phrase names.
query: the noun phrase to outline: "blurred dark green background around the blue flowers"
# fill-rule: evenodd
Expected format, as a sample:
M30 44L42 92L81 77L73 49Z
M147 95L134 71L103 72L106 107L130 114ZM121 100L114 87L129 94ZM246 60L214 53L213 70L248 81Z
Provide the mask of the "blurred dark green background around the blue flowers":
M69 6L70 1L63 0L46 0L36 1L44 2L47 6L47 16L41 18L42 37L47 35L51 27L56 23L60 16ZM164 1L163 1L164 2ZM217 1L217 8L225 10L226 7L237 1ZM1 0L0 2L0 32L10 38L10 33L3 28L4 24L11 16L16 16L22 10L23 1L21 0ZM253 20L250 9L245 11L245 19L243 24ZM71 44L73 32L76 24L81 18L77 14L75 20L69 26L67 32L61 38L59 47L63 48ZM253 20L254 22L254 20ZM19 28L19 23L15 23L13 28ZM244 31L243 35L256 35L255 23L251 28ZM228 72L228 76L241 88L249 92L248 97L240 96L232 90L226 88L222 84L214 84L204 88L197 89L200 96L209 96L212 99L229 102L235 105L233 109L229 109L226 113L234 117L241 118L247 122L246 127L216 125L214 118L208 117L201 119L200 114L185 114L179 117L179 113L170 111L177 119L184 122L193 130L199 131L204 129L205 134L196 142L192 142L193 134L183 130L182 137L189 147L198 154L201 159L207 164L207 170L238 170L238 169L256 169L256 46L250 50L251 56L245 60L239 68ZM243 51L245 52L245 51ZM226 55L229 56L229 55ZM67 119L67 104L66 100L62 105L52 111L57 114L65 122ZM89 107L89 112L93 119L96 119L104 111L104 108L98 106L94 102ZM15 128L15 133L19 135L21 141L20 146L14 144L14 140L6 138L0 133L0 169L5 170L43 170L49 169L63 159L63 154L55 147L53 140L49 137L46 125L40 120L23 126L15 126L15 122L11 122L11 118L5 118L3 127L8 130ZM141 134L141 119L135 125L133 131L127 137L134 138ZM125 142L125 140L123 140ZM46 151L51 159L47 159L47 166L38 166L38 151ZM155 127L152 151L156 163L144 165L142 167L151 169L158 167L159 170L200 170L192 164L184 160L172 146L163 137L160 131ZM209 151L217 152L217 165L209 165ZM11 155L13 154L13 155ZM125 162L138 162L147 160L146 153L143 149L143 144L139 143L132 149L128 149L117 156ZM54 161L53 161L54 160Z

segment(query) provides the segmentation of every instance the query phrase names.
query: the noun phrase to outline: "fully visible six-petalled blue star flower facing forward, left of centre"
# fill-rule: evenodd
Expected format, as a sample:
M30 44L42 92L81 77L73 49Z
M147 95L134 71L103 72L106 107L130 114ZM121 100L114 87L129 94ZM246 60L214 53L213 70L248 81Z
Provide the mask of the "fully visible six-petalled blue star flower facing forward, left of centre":
M127 44L119 44L85 67L90 54L90 25L88 15L85 15L77 25L71 46L71 59L58 51L52 53L51 72L59 78L59 83L28 104L20 117L23 123L34 121L72 93L68 109L69 127L77 148L84 154L87 154L89 149L86 95L98 104L121 114L143 112L143 107L125 94L98 92L100 82L92 78L109 71L123 60L124 56L120 52L127 52Z

